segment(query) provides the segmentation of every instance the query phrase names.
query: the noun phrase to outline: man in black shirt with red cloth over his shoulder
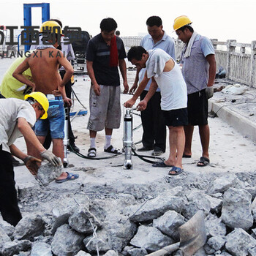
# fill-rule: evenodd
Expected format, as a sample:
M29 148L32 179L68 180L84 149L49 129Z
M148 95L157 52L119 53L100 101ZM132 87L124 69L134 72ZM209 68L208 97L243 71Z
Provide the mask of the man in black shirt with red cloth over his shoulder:
M100 23L100 34L93 37L86 50L86 64L91 78L90 117L87 129L90 130L91 146L88 157L96 157L95 138L98 131L105 128L104 151L121 154L111 145L113 129L120 127L120 78L118 65L124 83L124 94L129 90L127 83L127 54L120 37L115 37L117 23L113 18L105 18Z

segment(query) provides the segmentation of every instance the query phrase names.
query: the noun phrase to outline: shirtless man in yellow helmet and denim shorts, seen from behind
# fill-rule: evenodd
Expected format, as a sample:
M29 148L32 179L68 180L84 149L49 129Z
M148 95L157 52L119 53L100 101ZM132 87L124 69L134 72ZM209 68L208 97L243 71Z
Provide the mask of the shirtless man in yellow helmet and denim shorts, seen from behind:
M64 57L61 50L57 50L59 43L56 38L53 38L54 34L62 33L61 27L55 21L45 21L42 23L40 31L43 34L42 45L37 47L37 51L34 51L31 56L26 58L13 72L13 76L36 91L41 91L47 95L49 99L48 118L45 120L39 120L35 124L34 130L40 143L44 143L45 137L50 127L51 138L53 140L53 154L64 159L64 102L67 105L71 104L71 99L66 97L64 85L70 80L73 74L73 68L69 61ZM34 54L37 53L37 56ZM66 70L63 80L59 75L59 67L63 66ZM26 69L31 69L32 78L34 83L28 80L23 72ZM62 96L54 96L54 91L60 91ZM31 147L29 142L27 143L28 154L34 157L40 157L39 152ZM77 174L63 172L61 176L56 178L57 183L64 181L74 180L78 178Z

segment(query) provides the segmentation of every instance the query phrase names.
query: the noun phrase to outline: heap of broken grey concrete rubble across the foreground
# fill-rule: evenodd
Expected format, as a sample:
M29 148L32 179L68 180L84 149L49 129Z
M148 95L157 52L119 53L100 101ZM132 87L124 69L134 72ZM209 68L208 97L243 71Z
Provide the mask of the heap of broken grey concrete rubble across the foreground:
M162 189L152 184L158 187L158 194L145 198L141 192L138 196L127 194L127 187L120 191L117 184L111 186L111 193L84 192L83 187L75 193L61 190L58 200L55 199L59 203L52 204L53 190L47 187L44 192L50 201L45 208L39 207L41 204L28 204L33 198L39 201L36 193L21 204L28 214L17 227L0 222L0 252L20 256L26 253L26 256L37 256L39 252L45 256L94 256L97 252L106 256L143 256L179 241L178 227L202 209L208 241L195 255L254 255L256 239L251 227L256 224L252 215L256 203L246 188L254 188L256 174L250 173L246 182L244 177L239 180L241 176L232 175L228 185L229 179L225 178L222 186L221 176L190 175L178 177L177 183L170 179ZM195 186L201 180L204 180L203 190ZM191 181L195 183L188 184ZM99 190L103 191L104 187ZM135 193L133 188L128 191ZM120 194L114 193L115 190ZM31 215L31 211L37 213Z

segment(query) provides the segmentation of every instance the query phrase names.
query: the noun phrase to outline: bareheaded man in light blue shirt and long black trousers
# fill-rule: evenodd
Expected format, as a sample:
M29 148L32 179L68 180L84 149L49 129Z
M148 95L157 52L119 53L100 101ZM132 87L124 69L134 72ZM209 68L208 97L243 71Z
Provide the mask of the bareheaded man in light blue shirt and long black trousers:
M160 48L165 50L173 59L175 56L175 43L173 38L169 37L162 29L162 19L158 16L151 16L146 20L148 28L148 34L143 37L140 42L140 46L146 50L153 50ZM130 93L133 93L138 87L138 82L141 83L145 75L146 69L137 68L135 83L130 89ZM148 93L151 85L149 80L143 93L140 94L140 99L143 100ZM143 125L143 147L139 148L138 151L148 151L154 149L152 155L158 156L165 152L166 144L166 127L163 121L162 111L160 108L161 94L160 90L157 92L148 102L148 107L141 113L141 121Z

